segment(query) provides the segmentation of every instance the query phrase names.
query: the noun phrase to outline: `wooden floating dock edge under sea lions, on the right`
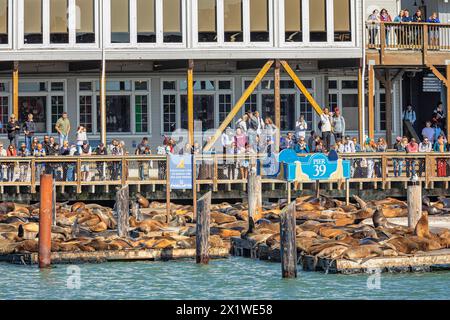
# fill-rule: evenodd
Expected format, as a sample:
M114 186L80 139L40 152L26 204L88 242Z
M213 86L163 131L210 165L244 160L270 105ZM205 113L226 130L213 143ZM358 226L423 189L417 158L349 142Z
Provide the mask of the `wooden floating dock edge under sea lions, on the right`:
M271 250L267 245L256 245L255 242L240 238L231 238L232 254L252 259L280 262L280 250ZM298 263L305 271L321 271L327 273L354 274L373 272L416 272L450 270L450 249L421 252L410 256L376 257L352 261L347 259L318 258L299 254ZM315 264L315 265L314 265Z

